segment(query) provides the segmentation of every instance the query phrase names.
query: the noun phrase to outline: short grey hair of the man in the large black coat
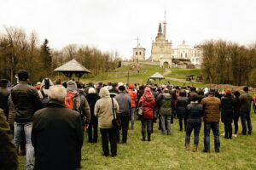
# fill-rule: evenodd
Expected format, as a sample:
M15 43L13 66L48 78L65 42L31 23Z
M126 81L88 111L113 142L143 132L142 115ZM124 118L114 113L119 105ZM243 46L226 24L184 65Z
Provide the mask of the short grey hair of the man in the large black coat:
M55 85L49 88L48 98L49 100L54 99L57 101L64 102L67 94L67 89L62 85Z

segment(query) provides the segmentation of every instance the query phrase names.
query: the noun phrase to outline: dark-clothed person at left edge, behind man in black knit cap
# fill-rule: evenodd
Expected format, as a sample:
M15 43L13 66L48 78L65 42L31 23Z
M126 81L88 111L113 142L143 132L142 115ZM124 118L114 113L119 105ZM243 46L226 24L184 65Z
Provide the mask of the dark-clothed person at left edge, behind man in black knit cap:
M0 108L3 109L4 115L9 118L9 107L8 107L8 98L10 91L7 88L8 80L0 80Z

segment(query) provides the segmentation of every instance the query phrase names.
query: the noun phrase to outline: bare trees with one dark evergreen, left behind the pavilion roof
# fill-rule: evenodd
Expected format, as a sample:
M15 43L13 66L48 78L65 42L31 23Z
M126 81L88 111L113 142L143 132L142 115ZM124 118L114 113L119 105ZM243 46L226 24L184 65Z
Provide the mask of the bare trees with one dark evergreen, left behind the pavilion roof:
M4 27L0 32L0 78L15 82L15 74L20 69L29 71L32 82L44 77L54 77L56 67L68 60L77 59L93 74L111 71L119 66L117 52L102 52L97 48L71 44L61 50L49 48L47 39L40 46L35 32L29 35L16 27Z

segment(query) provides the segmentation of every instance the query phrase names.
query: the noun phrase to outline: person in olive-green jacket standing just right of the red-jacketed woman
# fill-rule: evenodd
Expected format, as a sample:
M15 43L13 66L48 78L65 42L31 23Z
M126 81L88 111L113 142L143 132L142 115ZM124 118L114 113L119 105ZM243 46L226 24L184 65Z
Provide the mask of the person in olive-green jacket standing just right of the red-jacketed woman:
M172 116L172 95L168 88L165 88L156 100L156 105L160 115L161 133L171 135L171 116Z

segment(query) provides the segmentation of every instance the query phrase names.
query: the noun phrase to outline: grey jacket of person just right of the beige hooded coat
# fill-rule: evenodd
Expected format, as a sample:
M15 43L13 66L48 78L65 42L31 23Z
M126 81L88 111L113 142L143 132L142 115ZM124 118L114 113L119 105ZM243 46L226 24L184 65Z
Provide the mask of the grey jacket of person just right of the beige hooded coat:
M129 116L131 114L131 98L129 94L120 92L114 99L119 103L119 116Z

